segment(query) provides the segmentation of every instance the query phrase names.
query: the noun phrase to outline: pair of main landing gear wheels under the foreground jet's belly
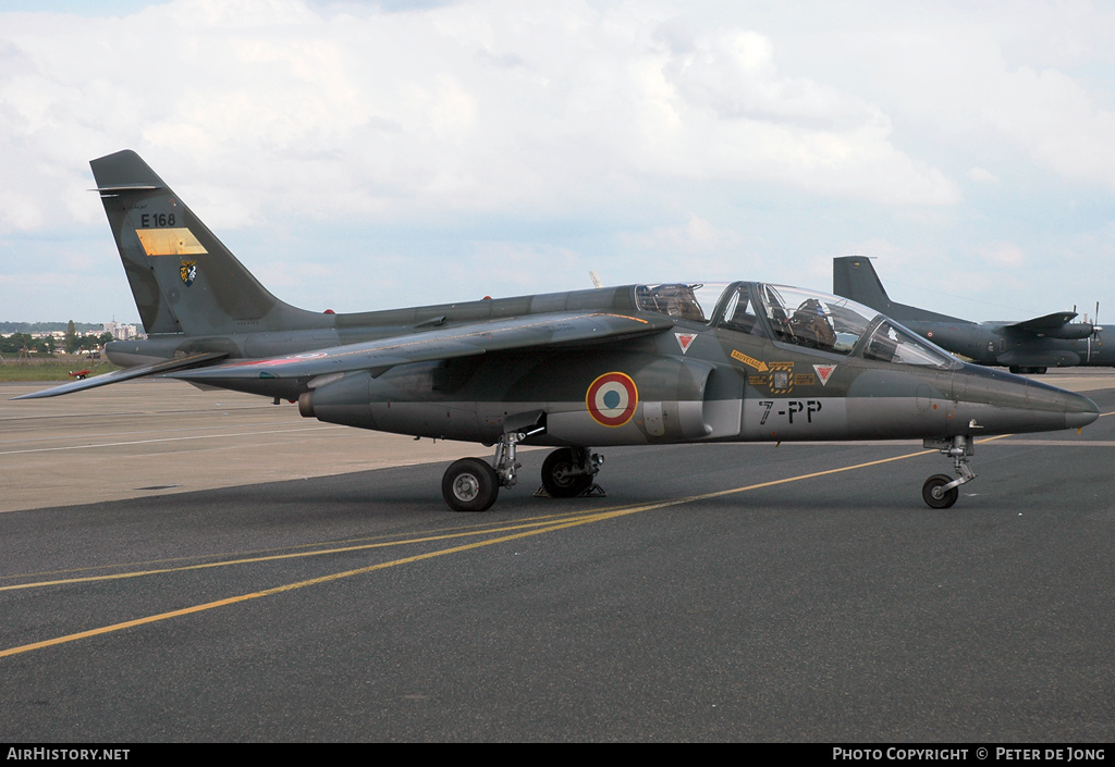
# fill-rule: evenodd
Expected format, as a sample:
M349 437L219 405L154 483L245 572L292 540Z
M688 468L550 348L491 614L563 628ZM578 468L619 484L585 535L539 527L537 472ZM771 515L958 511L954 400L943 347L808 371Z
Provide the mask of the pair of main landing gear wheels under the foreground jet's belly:
M515 448L533 434L537 430L503 435L496 443L492 464L482 458L462 458L449 464L442 477L442 495L449 508L455 512L489 509L501 487L518 483L516 469L522 464L516 460ZM580 495L592 486L603 463L603 456L588 447L559 448L542 464L542 486L553 498Z

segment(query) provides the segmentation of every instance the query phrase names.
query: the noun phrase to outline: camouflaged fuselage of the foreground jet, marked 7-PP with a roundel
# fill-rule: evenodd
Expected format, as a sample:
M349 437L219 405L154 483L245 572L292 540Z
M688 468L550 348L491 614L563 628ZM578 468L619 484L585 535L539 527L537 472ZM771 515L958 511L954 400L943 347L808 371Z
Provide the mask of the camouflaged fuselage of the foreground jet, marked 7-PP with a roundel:
M746 283L739 283L746 284ZM449 332L477 321L553 312L622 312L661 319L638 307L638 287L495 299L406 310L333 314L332 327L167 334L108 346L118 363L224 352L274 360L273 372L220 378L215 370L172 373L185 380L300 401L302 412L359 428L493 444L518 418L544 418L530 438L542 445L646 445L681 441L901 439L927 435L1072 428L1084 400L1026 378L957 363L902 366L826 352L726 323L673 319L671 332L595 346L508 350L392 366L382 371L282 377L282 362L345 344ZM759 288L752 285L752 292ZM710 312L716 317L716 312ZM633 399L629 418L609 423L586 405L600 377L617 373ZM1088 404L1090 405L1090 402ZM542 416L541 414L544 414ZM975 426L972 425L975 423Z

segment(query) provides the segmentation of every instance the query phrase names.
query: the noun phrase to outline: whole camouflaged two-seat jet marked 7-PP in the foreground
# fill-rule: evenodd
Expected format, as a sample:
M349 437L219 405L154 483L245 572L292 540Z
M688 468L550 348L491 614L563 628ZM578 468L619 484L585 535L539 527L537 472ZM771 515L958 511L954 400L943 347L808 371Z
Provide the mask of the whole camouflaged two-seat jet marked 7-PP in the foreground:
M975 478L972 438L1078 428L1092 400L966 365L846 299L760 282L670 282L358 314L266 291L134 152L91 162L148 333L126 366L28 397L164 376L297 400L322 421L495 446L442 492L487 509L517 482L520 445L556 447L551 496L594 483L590 446L923 439L953 462L922 496L944 508ZM21 399L21 398L17 398Z

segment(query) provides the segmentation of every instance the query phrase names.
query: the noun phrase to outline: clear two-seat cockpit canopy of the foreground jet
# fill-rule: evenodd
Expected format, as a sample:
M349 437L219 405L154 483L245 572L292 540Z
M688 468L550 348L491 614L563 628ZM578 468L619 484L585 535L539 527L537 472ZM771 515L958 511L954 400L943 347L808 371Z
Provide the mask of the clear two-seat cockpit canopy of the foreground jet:
M845 357L951 369L949 352L854 301L764 282L638 285L640 309Z

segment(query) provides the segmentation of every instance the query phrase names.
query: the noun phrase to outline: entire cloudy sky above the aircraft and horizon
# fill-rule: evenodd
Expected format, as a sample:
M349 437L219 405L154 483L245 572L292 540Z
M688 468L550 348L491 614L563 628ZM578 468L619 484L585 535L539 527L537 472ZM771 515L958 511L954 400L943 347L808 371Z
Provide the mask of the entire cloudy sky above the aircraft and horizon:
M0 0L0 320L137 321L133 148L272 292L662 280L1115 321L1115 6Z

